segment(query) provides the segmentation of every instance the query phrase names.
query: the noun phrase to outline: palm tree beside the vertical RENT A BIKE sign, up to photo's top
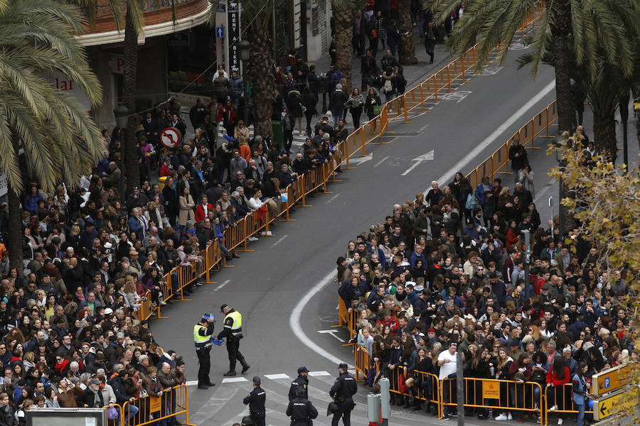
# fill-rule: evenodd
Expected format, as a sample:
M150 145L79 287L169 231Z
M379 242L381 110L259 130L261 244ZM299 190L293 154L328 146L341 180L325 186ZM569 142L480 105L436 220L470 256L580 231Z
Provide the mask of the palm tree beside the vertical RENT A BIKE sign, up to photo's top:
M274 48L272 38L272 18L274 0L248 0L242 2L242 21L251 43L251 59L248 70L251 99L254 110L254 133L273 136L271 114L273 110Z

